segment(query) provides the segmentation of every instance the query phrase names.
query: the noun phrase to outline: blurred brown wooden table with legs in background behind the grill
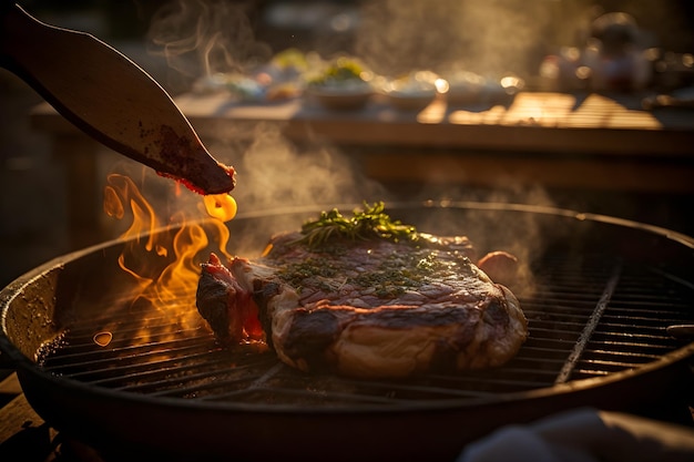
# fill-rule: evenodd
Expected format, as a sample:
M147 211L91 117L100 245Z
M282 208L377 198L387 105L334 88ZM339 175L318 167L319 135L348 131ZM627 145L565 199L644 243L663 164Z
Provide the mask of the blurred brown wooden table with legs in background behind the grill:
M378 99L355 111L304 99L239 103L226 93L186 93L175 101L208 146L252 142L258 124L273 125L299 146L347 153L365 175L400 194L415 183L493 188L503 181L550 189L694 194L694 110L644 111L642 97L520 92L499 104L460 107L438 99L411 112ZM71 234L79 244L96 242L103 147L48 104L35 107L31 123L50 134L53 154L65 165Z

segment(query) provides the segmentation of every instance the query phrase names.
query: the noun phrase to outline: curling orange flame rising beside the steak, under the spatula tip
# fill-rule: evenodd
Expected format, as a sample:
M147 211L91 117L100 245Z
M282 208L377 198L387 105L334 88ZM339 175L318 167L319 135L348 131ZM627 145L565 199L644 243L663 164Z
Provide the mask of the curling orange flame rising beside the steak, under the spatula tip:
M176 196L182 194L178 189ZM216 245L214 251L231 258L226 250L229 230L224 222L236 214L236 203L228 195L200 197L197 211L193 211L200 216L176 206L176 212L163 219L127 176L109 175L104 191L106 215L123 219L127 212L132 214L130 227L120 237L124 248L119 265L134 280L126 299L144 298L182 328L201 326L195 292L200 263L206 260L211 243ZM212 218L203 219L205 212Z

